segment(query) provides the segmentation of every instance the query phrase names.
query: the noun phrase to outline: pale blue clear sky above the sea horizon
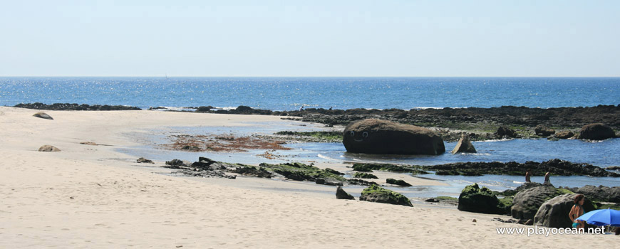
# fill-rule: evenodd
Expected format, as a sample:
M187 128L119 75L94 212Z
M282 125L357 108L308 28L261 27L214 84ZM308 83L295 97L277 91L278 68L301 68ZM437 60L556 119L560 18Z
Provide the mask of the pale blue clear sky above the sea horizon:
M620 1L7 1L0 76L617 77Z

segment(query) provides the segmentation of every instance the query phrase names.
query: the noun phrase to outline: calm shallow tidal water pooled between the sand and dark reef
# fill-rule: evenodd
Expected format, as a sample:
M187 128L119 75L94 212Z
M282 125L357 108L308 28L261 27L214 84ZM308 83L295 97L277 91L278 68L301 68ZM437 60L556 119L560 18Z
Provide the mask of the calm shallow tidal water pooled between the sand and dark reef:
M394 164L434 165L447 164L460 161L547 161L550 159L562 159L572 162L589 163L596 166L620 165L620 139L607 139L601 142L585 142L582 140L559 140L547 139L511 139L488 142L472 142L478 153L475 154L450 154L449 152L438 156L394 156L394 155L365 155L350 154L341 143L296 143L286 144L291 150L272 152L280 157L278 159L265 159L257 154L264 150L251 150L249 152L225 153L225 152L180 152L166 149L157 149L153 144L166 143L167 134L234 134L247 136L252 134L272 134L280 130L319 130L325 129L318 124L306 124L306 127L298 123L248 123L247 127L170 127L151 131L147 134L133 134L140 136L145 144L139 147L121 148L119 152L133 155L134 157L146 157L149 159L170 161L171 159L183 159L196 161L198 157L209 157L216 161L226 161L241 164L283 163L289 161L301 162L345 162L366 161ZM447 150L455 147L455 142L446 142ZM408 197L433 197L454 196L458 197L460 191L467 185L477 183L481 186L496 191L514 189L525 181L524 176L437 176L435 174L423 175L430 179L443 181L449 186L413 186L391 187ZM542 182L542 177L534 176L532 181ZM620 179L612 177L589 177L589 176L552 176L552 184L555 186L579 187L585 185L620 186ZM355 189L356 186L348 188ZM361 191L361 187L360 191Z

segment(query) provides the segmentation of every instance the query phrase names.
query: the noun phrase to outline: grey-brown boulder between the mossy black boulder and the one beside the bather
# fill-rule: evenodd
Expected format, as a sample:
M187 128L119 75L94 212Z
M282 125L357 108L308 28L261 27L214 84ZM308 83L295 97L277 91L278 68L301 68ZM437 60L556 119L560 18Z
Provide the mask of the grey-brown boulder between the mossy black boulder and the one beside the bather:
M512 218L520 220L534 219L538 208L551 198L561 194L572 194L565 189L556 189L552 186L537 186L531 189L520 191L512 199Z

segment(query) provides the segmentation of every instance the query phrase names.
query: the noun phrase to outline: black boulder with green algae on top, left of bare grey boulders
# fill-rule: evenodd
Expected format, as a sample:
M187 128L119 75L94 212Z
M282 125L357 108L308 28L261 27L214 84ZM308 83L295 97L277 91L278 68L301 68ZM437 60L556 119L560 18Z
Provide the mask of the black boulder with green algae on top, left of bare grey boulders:
M480 188L478 184L465 186L465 189L460 192L458 210L475 213L506 213L505 207L497 196L487 187Z

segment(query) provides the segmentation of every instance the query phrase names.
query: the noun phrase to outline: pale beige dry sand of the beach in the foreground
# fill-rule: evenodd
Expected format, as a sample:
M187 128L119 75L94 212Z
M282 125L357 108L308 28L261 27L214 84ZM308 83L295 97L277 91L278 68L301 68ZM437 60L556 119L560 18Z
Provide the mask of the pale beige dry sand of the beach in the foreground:
M138 144L128 132L279 117L46 111L55 120L43 120L35 112L0 107L0 248L610 248L620 239L497 235L496 227L531 227L455 208L269 189L311 184L153 174L113 151ZM79 144L88 141L114 146ZM62 152L37 152L43 144Z

